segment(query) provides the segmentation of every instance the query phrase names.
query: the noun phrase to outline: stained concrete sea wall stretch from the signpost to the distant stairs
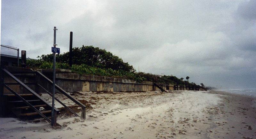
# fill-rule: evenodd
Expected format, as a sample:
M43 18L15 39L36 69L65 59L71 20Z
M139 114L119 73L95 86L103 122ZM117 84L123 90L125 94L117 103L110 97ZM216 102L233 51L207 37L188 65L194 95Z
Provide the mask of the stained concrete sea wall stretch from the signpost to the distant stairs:
M56 84L68 92L73 91L151 91L153 82L137 82L128 79L111 78L76 73L57 73Z

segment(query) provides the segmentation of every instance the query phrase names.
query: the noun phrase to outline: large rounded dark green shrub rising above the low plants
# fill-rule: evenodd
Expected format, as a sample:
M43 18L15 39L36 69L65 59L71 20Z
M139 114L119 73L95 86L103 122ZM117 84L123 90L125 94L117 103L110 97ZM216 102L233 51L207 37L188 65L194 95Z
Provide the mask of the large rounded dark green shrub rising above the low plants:
M101 69L111 68L113 70L124 70L127 72L135 72L132 65L125 63L123 59L113 55L111 52L99 47L82 46L80 48L75 47L72 49L73 59L72 62L75 65L86 64L92 67L98 67ZM68 63L69 52L65 52L60 55L56 55L56 62ZM53 59L52 54L38 56L40 60L51 62Z

